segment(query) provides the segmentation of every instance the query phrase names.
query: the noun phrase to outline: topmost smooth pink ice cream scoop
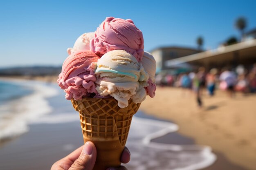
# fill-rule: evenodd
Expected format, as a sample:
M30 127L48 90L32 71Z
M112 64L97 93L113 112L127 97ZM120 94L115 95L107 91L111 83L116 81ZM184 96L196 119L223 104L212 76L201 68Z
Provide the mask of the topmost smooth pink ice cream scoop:
M108 51L125 50L141 61L144 54L144 39L142 32L132 20L108 17L90 40L90 50L100 57Z

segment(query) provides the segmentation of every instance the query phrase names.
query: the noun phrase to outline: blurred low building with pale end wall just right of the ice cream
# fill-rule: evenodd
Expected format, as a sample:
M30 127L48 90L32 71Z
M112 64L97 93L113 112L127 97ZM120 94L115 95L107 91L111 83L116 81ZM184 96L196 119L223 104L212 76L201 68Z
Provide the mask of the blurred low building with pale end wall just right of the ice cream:
M155 57L157 64L157 73L160 71L168 70L169 67L165 64L168 60L178 59L180 57L194 55L202 51L193 48L179 47L179 46L167 46L160 47L150 51Z

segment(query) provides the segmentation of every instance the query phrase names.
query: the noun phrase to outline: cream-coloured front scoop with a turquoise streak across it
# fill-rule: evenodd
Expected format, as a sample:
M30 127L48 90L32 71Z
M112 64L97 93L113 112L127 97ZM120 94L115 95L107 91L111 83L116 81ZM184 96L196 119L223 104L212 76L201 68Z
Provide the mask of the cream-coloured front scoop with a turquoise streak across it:
M110 95L120 108L128 106L128 100L141 103L146 98L148 73L136 58L124 51L114 50L104 54L97 62L96 90L101 96Z

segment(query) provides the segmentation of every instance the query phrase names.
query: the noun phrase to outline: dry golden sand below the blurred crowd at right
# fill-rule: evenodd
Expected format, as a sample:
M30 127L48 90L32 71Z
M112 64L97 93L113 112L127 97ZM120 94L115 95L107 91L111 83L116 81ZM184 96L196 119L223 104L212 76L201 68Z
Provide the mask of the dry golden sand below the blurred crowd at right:
M222 91L203 96L198 108L195 95L180 88L158 87L155 98L141 104L144 113L174 121L182 135L208 145L231 162L256 170L256 95L229 98Z

